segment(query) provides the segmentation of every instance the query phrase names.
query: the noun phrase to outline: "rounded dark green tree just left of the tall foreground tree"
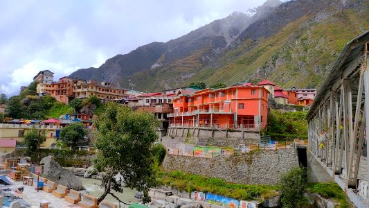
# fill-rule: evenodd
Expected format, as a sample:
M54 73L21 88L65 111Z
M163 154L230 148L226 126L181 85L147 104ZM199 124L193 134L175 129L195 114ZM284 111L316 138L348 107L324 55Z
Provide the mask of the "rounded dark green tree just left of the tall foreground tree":
M74 146L78 140L86 137L87 130L82 123L71 123L60 130L60 138L67 146Z

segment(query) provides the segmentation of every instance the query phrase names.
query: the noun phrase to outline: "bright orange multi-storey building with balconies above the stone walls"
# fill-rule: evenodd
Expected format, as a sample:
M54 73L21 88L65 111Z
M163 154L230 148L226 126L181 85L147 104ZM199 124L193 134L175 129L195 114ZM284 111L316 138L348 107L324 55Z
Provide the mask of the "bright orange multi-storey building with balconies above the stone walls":
M237 85L178 92L170 126L262 130L267 125L269 91L262 86Z

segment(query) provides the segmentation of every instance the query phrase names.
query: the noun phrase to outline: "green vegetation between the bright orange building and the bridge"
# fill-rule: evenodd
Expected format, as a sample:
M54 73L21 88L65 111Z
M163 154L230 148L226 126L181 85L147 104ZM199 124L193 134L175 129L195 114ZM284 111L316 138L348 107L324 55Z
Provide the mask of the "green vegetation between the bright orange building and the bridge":
M266 133L273 139L307 139L307 112L270 110Z

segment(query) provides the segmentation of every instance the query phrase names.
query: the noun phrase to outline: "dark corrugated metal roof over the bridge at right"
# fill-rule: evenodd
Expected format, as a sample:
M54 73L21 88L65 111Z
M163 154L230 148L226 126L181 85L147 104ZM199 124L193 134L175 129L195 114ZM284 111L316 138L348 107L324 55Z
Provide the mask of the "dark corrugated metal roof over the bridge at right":
M365 47L365 43L369 41L369 31L355 37L353 40L348 42L343 48L339 58L337 58L336 62L328 74L327 78L325 79L323 85L320 89L318 89L318 93L314 99L314 103L312 107L310 107L309 112L307 113L307 119L311 119L314 111L318 108L321 101L324 100L325 95L327 93L331 93L331 87L336 82L336 80L341 79L341 71L345 69L345 67L352 62L358 55L360 55L361 50Z

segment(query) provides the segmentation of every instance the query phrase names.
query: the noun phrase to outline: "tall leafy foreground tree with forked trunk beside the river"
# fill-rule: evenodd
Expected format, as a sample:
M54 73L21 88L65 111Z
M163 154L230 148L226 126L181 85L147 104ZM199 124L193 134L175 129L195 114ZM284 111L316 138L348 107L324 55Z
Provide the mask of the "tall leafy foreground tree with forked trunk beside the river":
M98 202L107 194L119 200L111 190L122 193L123 182L131 189L143 191L143 202L149 202L148 191L154 184L153 144L158 137L155 132L158 121L154 115L111 102L93 122L98 150L93 164L97 171L104 173L102 187L105 190ZM118 173L123 177L116 181L114 176Z

